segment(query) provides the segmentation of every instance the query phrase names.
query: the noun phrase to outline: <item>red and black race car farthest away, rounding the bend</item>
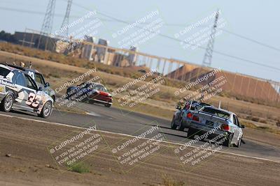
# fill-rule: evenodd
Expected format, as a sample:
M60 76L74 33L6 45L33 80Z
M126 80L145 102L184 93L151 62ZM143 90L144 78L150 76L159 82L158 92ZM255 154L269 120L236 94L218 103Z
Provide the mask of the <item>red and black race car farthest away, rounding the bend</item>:
M97 102L104 104L105 107L112 105L112 95L103 84L85 82L78 86L70 86L66 93L69 100Z

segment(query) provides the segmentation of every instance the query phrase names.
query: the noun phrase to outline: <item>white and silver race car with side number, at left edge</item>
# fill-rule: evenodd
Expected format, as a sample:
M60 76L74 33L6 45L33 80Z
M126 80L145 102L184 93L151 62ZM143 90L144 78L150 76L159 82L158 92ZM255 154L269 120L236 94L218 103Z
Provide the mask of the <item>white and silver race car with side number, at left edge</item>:
M27 72L0 64L0 102L2 111L19 109L48 118L54 101Z

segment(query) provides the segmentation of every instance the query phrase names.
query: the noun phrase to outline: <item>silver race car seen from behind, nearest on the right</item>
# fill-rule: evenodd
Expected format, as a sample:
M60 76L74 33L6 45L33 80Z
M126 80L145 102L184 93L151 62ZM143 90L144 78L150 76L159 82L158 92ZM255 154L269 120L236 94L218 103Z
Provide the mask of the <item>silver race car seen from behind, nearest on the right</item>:
M241 145L244 125L239 123L237 115L231 111L205 106L200 110L189 111L183 117L190 119L187 135L190 139L194 139L195 135L209 134L208 139L222 136L225 139L224 146Z

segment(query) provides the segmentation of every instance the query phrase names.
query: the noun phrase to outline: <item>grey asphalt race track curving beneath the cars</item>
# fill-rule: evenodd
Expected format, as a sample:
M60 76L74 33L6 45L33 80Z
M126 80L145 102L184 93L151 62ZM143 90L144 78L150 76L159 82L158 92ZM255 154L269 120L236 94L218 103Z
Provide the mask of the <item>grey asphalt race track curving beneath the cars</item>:
M186 138L187 130L184 132L172 130L170 128L170 121L161 118L155 118L144 114L138 114L129 111L111 107L107 108L98 104L81 104L80 109L87 111L90 114L73 114L69 112L61 112L58 110L52 111L52 116L47 119L39 118L34 114L29 114L21 111L11 111L9 113L0 112L0 114L8 114L11 116L18 116L21 118L31 118L34 120L48 121L54 123L62 123L66 125L73 125L78 127L87 127L90 124L97 125L98 130L109 132L116 132L121 134L137 135L150 129L153 125L160 126L160 131L165 135L167 141L184 144L189 139ZM244 137L246 144L241 144L241 147L227 148L224 147L222 151L234 153L235 155L246 155L249 157L258 157L266 160L274 160L280 162L280 150L269 145L260 144L251 141ZM194 146L200 146L203 142L199 141Z

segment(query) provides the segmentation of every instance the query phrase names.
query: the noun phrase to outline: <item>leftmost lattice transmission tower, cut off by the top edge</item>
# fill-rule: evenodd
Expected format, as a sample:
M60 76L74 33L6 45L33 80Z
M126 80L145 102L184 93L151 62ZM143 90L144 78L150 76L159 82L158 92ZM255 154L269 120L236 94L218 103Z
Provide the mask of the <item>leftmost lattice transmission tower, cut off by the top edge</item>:
M53 17L55 15L55 0L48 2L47 10L45 11L45 17L41 28L41 34L48 35L52 32Z

